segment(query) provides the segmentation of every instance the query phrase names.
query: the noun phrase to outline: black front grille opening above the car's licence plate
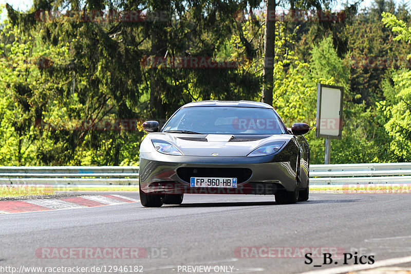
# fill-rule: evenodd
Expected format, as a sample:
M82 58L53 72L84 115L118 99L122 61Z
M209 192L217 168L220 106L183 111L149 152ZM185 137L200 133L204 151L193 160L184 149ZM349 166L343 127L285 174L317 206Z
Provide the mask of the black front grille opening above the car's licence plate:
M250 179L251 169L246 168L179 168L177 175L185 182L190 182L191 177L223 177L237 178L237 184Z

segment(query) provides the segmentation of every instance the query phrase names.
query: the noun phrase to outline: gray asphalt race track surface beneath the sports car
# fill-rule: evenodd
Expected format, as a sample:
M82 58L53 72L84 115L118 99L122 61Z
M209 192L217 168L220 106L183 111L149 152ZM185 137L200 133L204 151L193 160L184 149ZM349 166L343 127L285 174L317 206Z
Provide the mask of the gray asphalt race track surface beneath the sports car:
M346 266L355 265L354 252L358 260L366 256L366 265L370 256L377 263L411 255L411 194L311 194L309 201L295 205L273 200L192 194L181 206L143 208L133 203L2 214L0 272L6 273L1 267L7 266L79 266L111 273L117 267L119 273L120 266L132 266L143 273L204 273L200 266L210 266L212 273L300 273L341 267L343 252L353 255ZM120 247L126 250L121 259L101 259L96 251ZM141 247L144 258L126 259L129 247ZM78 259L84 248L94 248L89 256L98 258ZM313 253L311 264L305 264L304 248ZM322 265L321 252L331 252L333 262Z

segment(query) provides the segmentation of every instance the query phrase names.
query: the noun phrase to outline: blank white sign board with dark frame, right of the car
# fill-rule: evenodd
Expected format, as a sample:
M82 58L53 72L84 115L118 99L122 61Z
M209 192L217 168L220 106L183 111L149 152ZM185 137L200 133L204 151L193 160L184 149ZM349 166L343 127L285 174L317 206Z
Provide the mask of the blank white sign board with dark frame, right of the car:
M342 86L318 84L316 137L341 139L343 93Z

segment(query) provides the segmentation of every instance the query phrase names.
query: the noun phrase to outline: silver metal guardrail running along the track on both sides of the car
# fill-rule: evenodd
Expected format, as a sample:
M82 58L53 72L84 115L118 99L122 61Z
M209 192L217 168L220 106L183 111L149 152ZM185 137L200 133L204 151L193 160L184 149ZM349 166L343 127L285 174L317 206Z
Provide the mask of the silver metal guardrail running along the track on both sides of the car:
M133 186L138 166L0 167L0 185ZM311 185L409 184L411 163L311 165Z

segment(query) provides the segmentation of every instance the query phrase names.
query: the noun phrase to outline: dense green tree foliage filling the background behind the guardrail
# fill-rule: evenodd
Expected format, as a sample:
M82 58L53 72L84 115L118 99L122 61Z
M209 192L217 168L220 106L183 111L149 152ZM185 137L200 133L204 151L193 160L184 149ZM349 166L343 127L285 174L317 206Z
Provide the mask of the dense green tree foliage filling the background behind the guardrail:
M137 165L141 121L164 121L194 100L259 101L265 16L256 10L262 3L58 0L52 6L42 0L27 13L6 5L8 20L0 27L0 165ZM318 4L289 3L303 9ZM107 5L166 16L141 22L63 15L35 20L38 10ZM377 0L360 14L349 6L345 16L340 22L275 23L273 106L287 126L310 125L311 163L322 163L316 87L341 85L343 139L332 141L332 163L409 160L409 69L405 62L375 66L367 60L410 53L410 14L405 6ZM150 57L240 62L233 68L180 68L145 63ZM78 127L129 119L140 121L138 131Z

